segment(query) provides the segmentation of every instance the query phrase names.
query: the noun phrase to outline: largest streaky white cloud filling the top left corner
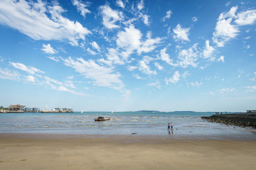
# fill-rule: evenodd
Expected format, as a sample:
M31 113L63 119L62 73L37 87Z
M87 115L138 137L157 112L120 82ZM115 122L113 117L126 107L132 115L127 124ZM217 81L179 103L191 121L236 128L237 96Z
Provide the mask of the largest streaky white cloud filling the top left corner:
M1 24L19 30L34 40L68 40L71 45L78 45L78 40L85 40L90 30L78 21L61 16L63 12L57 3L46 6L43 1L0 1Z

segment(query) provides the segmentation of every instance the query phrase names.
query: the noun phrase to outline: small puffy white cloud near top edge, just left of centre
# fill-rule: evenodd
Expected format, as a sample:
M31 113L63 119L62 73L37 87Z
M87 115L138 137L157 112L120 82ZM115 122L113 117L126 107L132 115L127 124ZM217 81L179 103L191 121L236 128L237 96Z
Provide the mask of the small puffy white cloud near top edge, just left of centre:
M122 21L122 12L118 12L110 8L107 4L105 6L100 6L101 15L103 18L103 26L108 29L119 28L115 25L117 21Z

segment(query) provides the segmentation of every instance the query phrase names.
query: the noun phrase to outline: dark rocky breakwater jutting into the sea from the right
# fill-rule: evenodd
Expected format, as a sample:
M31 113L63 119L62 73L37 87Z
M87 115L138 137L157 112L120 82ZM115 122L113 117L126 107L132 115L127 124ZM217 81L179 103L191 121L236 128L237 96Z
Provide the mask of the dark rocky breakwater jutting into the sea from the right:
M233 113L223 115L210 115L201 117L213 123L223 123L225 125L237 125L240 127L256 128L256 113Z

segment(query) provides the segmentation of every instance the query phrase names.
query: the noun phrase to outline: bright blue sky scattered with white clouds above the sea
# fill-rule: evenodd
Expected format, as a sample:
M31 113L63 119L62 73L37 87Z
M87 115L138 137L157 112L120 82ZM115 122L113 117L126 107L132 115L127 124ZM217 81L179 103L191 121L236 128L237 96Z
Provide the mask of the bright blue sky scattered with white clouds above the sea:
M0 105L256 106L256 1L0 1Z

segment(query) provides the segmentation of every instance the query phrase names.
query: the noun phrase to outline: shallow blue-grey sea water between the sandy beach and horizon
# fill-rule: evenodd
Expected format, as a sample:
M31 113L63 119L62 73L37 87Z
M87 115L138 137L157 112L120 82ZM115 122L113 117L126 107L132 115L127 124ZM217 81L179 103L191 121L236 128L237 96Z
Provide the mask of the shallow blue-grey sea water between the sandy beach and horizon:
M51 135L158 135L177 139L256 140L252 128L208 123L201 116L213 113L5 113L0 114L0 133ZM98 116L111 120L95 122ZM168 123L174 131L168 132Z

